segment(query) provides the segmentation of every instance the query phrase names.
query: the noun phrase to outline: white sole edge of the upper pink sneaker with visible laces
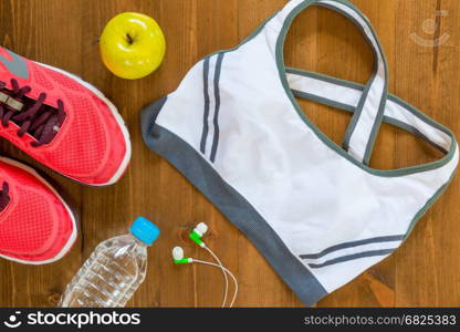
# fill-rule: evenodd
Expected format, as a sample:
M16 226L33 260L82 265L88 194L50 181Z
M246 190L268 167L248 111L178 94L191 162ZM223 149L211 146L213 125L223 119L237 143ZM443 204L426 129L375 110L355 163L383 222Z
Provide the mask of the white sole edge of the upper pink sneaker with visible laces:
M81 180L75 179L71 176L67 176L65 174L62 174L62 173L60 173L60 174L62 174L65 177L69 177L71 179L73 179L77 183L94 186L94 187L109 186L109 185L113 185L116 181L118 181L118 179L123 176L127 166L129 165L129 159L130 159L130 156L132 156L132 145L130 145L130 139L129 139L129 132L126 127L125 121L123 120L122 115L118 113L118 110L116 108L116 106L100 90L97 90L94 85L83 81L81 77L76 76L75 74L69 73L64 70L61 70L59 68L54 68L54 66L49 65L49 64L44 64L44 63L40 63L40 62L35 62L35 63L41 65L41 66L44 66L49 70L56 71L56 72L59 72L59 73L61 73L61 74L63 74L63 75L65 75L70 79L73 79L79 84L83 85L84 87L86 87L87 90L93 92L100 100L102 100L108 106L108 108L111 110L112 114L114 115L116 122L118 123L119 127L122 128L122 133L123 133L123 136L125 138L125 144L126 144L125 157L123 158L123 162L119 165L119 168L117 169L115 175L107 183L104 183L104 184L86 184L86 183L82 183Z

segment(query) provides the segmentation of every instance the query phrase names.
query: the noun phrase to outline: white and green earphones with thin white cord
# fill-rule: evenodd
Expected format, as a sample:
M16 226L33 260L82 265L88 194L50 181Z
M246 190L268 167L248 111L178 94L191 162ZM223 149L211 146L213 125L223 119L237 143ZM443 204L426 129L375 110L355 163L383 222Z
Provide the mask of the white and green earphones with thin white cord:
M234 278L233 273L227 269L220 261L219 257L211 250L209 249L205 241L201 239L203 237L203 235L208 231L208 225L206 225L205 222L200 222L198 224L194 230L190 232L189 238L197 243L200 248L206 249L211 256L212 258L217 261L217 263L212 263L209 261L202 261L199 259L195 259L195 258L185 258L184 257L184 249L181 247L175 247L172 249L172 261L176 264L187 264L187 263L201 263L201 264L208 264L208 266L212 266L212 267L218 267L222 270L222 274L226 280L226 291L223 293L223 301L222 301L222 308L226 307L227 303L227 295L228 295L228 290L229 290L229 280L227 274L229 274L233 282L234 282L234 292L233 292L233 298L230 302L230 308L233 307L234 300L237 299L237 294L238 294L238 281L237 278Z

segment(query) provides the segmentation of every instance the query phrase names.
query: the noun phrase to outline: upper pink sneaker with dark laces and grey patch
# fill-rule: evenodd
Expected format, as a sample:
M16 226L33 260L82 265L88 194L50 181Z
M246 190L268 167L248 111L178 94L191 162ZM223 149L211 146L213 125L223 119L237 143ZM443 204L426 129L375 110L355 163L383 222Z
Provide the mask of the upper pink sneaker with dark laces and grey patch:
M2 48L0 136L86 185L116 183L130 158L123 118L100 91Z

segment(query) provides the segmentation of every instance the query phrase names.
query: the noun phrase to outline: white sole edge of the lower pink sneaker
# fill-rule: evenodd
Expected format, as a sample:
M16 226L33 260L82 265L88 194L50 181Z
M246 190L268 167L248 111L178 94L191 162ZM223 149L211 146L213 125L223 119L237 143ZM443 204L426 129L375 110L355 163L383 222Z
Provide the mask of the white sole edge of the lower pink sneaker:
M75 243L75 240L77 238L77 227L76 227L76 221L75 221L75 216L73 214L73 211L70 209L70 207L67 206L67 204L65 203L65 200L61 197L61 195L58 194L58 191L42 177L40 176L35 169L19 163L17 160L10 159L10 158L6 158L6 157L0 157L0 160L15 166L18 168L21 168L23 170L25 170L27 173L35 176L42 184L44 184L48 188L50 188L51 191L53 191L54 195L58 196L58 198L61 200L61 203L64 205L66 211L69 212L69 215L71 216L72 219L72 226L73 226L73 230L72 230L72 235L69 238L67 242L64 245L64 247L62 248L62 250L52 259L46 259L46 260L41 260L41 261L30 261L30 260L22 260L22 259L18 259L18 258L12 258L9 256L4 256L0 253L1 258L11 260L11 261L15 261L15 262L20 262L20 263L24 263L24 264L32 264L32 266L39 266L39 264L48 264L48 263L52 263L55 262L56 260L60 260L61 258L63 258L72 248L72 246Z

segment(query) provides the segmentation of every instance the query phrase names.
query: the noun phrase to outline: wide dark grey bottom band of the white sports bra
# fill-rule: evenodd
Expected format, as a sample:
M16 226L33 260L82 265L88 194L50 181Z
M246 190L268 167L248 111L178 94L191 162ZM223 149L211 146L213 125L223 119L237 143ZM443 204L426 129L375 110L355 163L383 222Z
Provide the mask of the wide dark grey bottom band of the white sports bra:
M262 216L227 184L212 166L188 143L155 124L166 97L142 113L143 137L147 146L172 164L261 251L284 282L307 305L327 291L312 272L291 253Z

